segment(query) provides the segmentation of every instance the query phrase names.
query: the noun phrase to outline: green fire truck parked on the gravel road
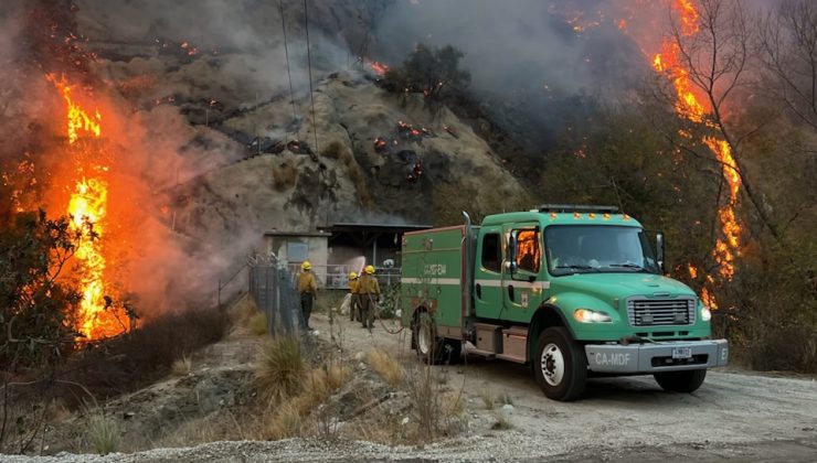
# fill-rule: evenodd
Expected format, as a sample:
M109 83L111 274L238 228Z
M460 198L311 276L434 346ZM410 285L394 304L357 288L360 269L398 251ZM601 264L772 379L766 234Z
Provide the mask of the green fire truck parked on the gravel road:
M611 206L549 204L406 233L402 323L428 363L481 355L531 366L545 396L593 376L698 389L729 358L709 309L664 276L664 236Z

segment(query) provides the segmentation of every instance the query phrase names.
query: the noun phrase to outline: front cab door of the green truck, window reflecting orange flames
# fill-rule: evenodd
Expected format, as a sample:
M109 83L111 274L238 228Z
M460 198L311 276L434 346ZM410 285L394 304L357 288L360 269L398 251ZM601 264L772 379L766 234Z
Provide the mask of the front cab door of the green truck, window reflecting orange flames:
M505 254L510 262L510 237L516 237L516 271L510 266L502 268L503 320L528 323L550 288L543 281L542 233L538 224L511 224L505 226Z

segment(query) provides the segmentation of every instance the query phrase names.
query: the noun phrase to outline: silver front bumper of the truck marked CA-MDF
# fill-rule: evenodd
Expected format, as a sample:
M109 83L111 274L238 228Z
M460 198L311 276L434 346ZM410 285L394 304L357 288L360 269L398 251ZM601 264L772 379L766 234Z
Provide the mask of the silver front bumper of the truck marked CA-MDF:
M598 373L659 373L724 366L729 342L670 341L650 344L588 344L584 346L587 366ZM687 356L689 355L689 356Z

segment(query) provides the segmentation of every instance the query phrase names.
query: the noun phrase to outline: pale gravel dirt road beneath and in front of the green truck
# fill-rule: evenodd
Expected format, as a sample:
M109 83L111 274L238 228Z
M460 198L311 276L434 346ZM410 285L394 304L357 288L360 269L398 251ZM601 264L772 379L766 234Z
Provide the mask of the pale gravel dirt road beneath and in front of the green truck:
M418 364L407 332L372 332L336 317L310 322L317 336L350 358L378 347L406 368ZM333 337L333 341L332 341ZM241 363L261 338L231 337L211 349L206 362ZM321 343L321 346L329 343ZM231 355L216 355L219 352ZM242 353L236 357L236 353ZM206 362L200 366L215 367ZM217 362L216 362L217 363ZM364 363L360 362L360 367ZM153 449L132 454L40 457L60 462L200 461L817 461L817 380L746 372L710 372L694 394L661 390L651 377L592 379L585 397L562 403L547 399L529 369L500 360L467 357L434 367L441 384L461 388L467 429L457 438L424 446L388 446L317 438L275 442L219 441L194 448ZM488 402L491 402L488 405ZM510 429L495 429L499 418ZM2 455L11 462L25 456Z

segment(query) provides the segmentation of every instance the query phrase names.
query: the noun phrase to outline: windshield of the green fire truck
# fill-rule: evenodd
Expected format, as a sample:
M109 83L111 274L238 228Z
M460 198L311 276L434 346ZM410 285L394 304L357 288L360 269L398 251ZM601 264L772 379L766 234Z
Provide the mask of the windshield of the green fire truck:
M614 225L554 225L545 229L553 276L584 272L660 273L645 232Z

